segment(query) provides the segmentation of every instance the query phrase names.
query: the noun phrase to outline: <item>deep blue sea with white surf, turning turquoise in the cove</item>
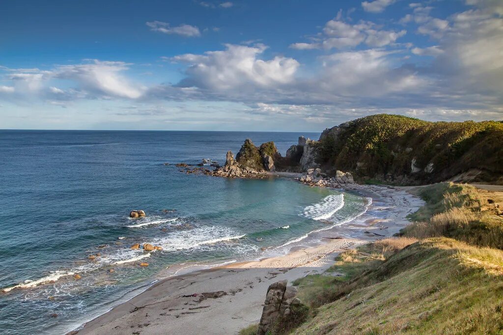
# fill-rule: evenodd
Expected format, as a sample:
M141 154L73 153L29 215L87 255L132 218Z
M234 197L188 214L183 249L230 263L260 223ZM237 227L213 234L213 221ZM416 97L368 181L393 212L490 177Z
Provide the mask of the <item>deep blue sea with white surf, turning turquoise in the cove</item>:
M64 333L161 270L285 253L327 221L365 210L365 198L338 190L187 175L175 166L203 158L223 164L245 138L272 140L284 154L300 135L319 136L0 131L0 333ZM130 219L132 209L147 217ZM133 243L163 250L135 251Z

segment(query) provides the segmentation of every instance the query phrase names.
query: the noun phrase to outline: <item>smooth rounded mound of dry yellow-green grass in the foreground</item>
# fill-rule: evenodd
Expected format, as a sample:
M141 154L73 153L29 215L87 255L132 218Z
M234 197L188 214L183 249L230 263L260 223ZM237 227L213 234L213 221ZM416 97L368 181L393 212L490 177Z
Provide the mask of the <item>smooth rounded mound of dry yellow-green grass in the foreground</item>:
M501 333L502 265L500 250L417 242L341 284L294 333Z

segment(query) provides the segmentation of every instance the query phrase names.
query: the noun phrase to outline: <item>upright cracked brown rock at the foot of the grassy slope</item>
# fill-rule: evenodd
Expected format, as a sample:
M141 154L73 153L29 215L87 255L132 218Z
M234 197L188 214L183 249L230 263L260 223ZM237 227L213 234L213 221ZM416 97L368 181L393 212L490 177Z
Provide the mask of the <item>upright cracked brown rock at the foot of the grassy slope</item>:
M278 317L289 315L292 306L301 304L300 299L295 297L297 288L287 286L287 283L283 280L269 285L257 335L267 334Z

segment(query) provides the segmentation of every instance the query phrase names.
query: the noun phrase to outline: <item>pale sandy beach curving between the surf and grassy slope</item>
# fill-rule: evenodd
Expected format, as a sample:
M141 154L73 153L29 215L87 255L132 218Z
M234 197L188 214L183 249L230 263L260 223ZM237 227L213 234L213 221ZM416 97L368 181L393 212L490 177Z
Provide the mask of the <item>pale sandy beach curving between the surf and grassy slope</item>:
M408 224L406 216L423 204L406 188L352 185L348 190L371 197L372 204L343 227L316 233L321 237L318 245L300 245L284 256L162 279L87 322L78 334L237 333L259 321L270 284L323 273L340 252L397 233Z

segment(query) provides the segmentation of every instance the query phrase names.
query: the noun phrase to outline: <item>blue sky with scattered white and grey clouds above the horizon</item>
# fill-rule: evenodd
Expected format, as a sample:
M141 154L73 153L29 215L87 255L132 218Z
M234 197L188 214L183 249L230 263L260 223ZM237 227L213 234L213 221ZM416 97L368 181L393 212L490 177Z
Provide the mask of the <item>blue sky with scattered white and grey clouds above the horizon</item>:
M0 1L0 129L503 120L503 0Z

